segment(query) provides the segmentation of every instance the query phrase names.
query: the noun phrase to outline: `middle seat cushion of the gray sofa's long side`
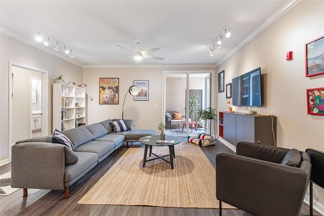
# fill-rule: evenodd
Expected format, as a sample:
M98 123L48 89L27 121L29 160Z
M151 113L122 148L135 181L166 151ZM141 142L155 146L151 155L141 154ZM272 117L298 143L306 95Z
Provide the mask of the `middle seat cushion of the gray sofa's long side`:
M99 155L99 158L113 150L115 144L110 141L90 141L85 145L78 146L75 148L77 152L94 152Z

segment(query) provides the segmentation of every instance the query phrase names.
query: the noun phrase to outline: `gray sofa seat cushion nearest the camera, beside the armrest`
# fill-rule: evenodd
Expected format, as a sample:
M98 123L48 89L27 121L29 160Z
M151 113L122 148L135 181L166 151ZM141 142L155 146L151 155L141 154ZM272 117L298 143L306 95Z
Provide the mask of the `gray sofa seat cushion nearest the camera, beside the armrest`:
M64 168L64 183L70 182L73 179L83 176L85 170L97 164L99 159L98 154L93 152L75 152L79 158L77 163L70 164Z

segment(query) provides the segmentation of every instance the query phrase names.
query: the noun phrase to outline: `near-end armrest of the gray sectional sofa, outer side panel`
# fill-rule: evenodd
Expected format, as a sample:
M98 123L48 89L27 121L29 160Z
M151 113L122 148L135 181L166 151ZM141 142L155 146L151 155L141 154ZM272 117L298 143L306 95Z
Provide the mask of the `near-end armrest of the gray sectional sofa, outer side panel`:
M11 186L64 189L64 145L19 143L12 146Z

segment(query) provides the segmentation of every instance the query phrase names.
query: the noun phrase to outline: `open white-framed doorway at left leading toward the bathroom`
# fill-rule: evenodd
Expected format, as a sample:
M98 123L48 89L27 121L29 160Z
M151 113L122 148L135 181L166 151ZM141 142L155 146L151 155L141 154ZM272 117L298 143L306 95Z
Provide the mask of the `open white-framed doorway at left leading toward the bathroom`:
M32 79L38 80L39 86L33 88ZM41 114L37 121L40 135L48 135L48 71L9 62L9 96L8 144L11 158L11 146L32 137L32 110Z

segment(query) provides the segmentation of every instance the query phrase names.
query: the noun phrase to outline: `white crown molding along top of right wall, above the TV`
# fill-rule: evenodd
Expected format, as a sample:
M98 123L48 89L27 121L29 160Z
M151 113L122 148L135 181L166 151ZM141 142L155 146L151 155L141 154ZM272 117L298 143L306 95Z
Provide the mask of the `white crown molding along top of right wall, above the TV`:
M298 5L302 0L290 0L284 6L279 8L274 14L272 14L266 21L264 21L255 31L253 31L245 40L243 40L237 47L235 47L228 55L226 55L223 59L217 62L217 66L224 63L229 57L234 55L237 51L239 51L242 47L244 47L248 42L250 42L253 38L259 35L263 30L269 27L272 23L278 20L280 17L284 16L288 11Z

